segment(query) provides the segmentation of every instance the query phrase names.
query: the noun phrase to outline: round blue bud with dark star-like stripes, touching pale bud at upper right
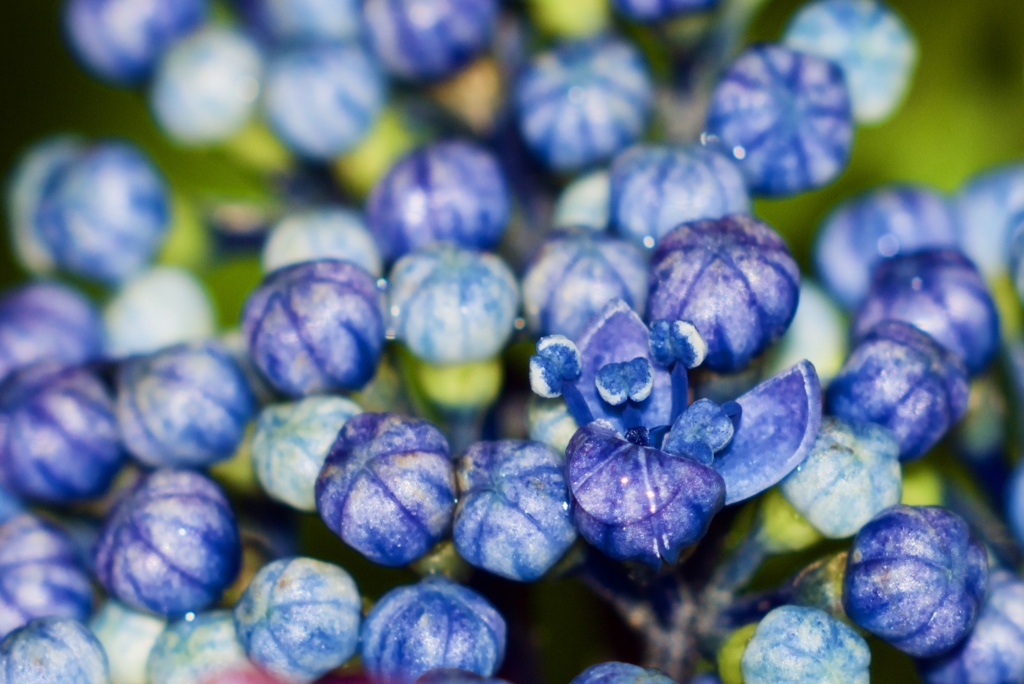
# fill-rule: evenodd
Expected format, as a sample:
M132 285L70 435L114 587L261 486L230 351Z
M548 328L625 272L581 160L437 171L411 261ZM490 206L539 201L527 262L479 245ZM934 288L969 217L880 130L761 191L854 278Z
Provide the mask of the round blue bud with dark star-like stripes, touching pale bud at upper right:
M850 159L853 117L842 70L773 43L748 48L712 95L708 135L731 152L755 193L831 182Z

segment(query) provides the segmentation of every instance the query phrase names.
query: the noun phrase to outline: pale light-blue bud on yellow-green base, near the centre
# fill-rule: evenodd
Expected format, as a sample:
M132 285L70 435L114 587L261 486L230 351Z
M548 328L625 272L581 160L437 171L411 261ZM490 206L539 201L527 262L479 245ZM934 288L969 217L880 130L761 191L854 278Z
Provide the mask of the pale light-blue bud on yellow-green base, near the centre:
M438 244L391 269L388 304L395 337L428 364L493 358L512 335L515 275L499 257Z

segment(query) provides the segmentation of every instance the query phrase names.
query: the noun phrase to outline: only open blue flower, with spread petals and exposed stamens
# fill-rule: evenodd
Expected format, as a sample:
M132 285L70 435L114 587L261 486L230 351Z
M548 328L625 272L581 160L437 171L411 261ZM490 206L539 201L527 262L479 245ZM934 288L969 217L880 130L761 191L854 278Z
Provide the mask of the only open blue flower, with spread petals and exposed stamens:
M581 426L566 448L573 520L613 558L674 563L724 504L774 485L814 444L813 366L802 361L735 401L689 404L687 370L707 350L692 324L648 329L615 300L578 344L546 337L530 359L534 391L562 396Z

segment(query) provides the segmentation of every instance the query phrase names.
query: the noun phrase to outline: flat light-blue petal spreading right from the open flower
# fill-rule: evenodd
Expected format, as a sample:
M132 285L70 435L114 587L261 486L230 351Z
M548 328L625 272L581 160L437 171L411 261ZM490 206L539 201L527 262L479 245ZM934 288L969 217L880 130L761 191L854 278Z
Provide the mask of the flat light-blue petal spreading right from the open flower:
M810 361L766 380L736 402L742 416L714 465L725 480L726 505L788 475L814 446L821 425L821 385Z

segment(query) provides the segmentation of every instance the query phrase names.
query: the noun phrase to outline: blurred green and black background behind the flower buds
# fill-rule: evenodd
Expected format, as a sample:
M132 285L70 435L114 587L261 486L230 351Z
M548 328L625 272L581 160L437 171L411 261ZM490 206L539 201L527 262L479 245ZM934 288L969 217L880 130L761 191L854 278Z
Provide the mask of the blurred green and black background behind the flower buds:
M167 0L172 2L173 0ZM61 43L60 0L6 0L0 4L0 173L40 136L77 132L118 136L139 143L177 194L203 198L258 197L257 177L228 155L176 147L153 123L144 97L96 82L72 60ZM768 0L752 40L778 37L800 0ZM972 174L1024 160L1024 2L1021 0L891 0L920 41L911 90L888 123L857 131L853 161L821 190L795 199L761 201L757 211L791 242L806 266L815 227L837 201L890 181L929 183L955 190ZM6 220L4 220L6 223ZM13 263L6 225L0 231L0 285L24 274ZM228 261L202 269L218 293L222 322L232 325L258 273L251 262ZM319 542L319 540L317 540ZM381 573L340 542L317 555L344 558L369 578L371 594L401 575ZM624 630L608 632L608 612L574 583L544 584L517 592L540 617L532 640L545 654L546 677L568 681L597 657L622 653ZM874 681L914 680L907 658L877 648Z

